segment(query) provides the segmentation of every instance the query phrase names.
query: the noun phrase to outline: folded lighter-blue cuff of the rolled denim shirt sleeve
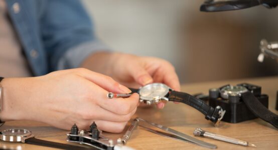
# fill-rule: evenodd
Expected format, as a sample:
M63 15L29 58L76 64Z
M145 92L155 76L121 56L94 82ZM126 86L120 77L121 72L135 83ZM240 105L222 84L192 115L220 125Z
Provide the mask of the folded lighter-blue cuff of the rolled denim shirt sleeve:
M99 40L84 42L72 47L59 59L57 70L80 67L89 55L97 51L111 51L111 49Z

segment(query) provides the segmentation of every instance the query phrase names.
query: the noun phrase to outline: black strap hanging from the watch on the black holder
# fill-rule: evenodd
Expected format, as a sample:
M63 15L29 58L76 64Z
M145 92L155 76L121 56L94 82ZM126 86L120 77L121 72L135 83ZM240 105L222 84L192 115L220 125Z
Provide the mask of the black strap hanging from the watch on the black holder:
M278 128L278 115L267 109L251 92L242 93L242 100L257 117Z

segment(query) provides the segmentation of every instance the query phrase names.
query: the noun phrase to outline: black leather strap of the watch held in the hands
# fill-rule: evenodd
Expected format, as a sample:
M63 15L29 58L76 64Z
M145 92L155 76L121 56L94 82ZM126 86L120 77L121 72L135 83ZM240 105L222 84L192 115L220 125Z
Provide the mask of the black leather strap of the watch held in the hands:
M186 92L179 92L179 91L169 91L169 101L177 101L188 104L203 114L205 114L205 118L211 120L212 122L216 122L217 119L220 117L218 112L214 112L214 108L206 104L203 100L198 99Z

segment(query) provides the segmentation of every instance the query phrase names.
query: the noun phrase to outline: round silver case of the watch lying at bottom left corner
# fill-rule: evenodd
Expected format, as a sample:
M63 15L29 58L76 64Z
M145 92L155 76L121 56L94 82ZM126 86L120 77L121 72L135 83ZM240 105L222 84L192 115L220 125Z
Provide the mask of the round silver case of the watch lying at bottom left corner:
M25 142L26 139L34 137L28 129L10 128L0 132L0 139L9 142Z

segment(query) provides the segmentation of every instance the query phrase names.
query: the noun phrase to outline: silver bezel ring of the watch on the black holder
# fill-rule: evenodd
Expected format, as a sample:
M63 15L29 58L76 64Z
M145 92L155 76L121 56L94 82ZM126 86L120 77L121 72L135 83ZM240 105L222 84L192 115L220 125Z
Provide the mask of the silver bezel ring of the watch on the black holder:
M237 91L228 90L228 89L231 89L231 88L234 88L234 87L236 87L236 88L240 87L241 90L237 90ZM221 97L224 98L224 99L228 99L229 95L238 95L238 96L241 96L242 93L248 91L248 89L246 87L241 86L241 85L235 85L235 86L227 85L227 86L222 87L219 90L220 90Z

